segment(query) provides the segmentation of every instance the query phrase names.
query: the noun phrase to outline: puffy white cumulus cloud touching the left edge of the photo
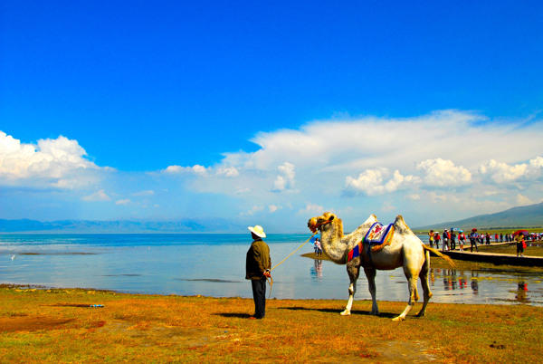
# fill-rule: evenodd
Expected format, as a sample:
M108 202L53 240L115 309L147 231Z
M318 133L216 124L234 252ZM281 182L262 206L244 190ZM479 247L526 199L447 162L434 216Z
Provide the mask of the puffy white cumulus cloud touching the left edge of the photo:
M76 140L60 136L40 139L37 145L0 131L0 178L9 181L49 180L49 185L71 188L84 185L84 178L74 177L85 169L99 169L84 158L87 155Z

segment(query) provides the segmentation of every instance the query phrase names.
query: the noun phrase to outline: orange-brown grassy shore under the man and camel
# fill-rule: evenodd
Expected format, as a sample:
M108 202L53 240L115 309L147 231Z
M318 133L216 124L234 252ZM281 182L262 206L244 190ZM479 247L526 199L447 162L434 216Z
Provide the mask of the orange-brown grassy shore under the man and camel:
M248 290L250 288L248 287ZM540 362L543 308L405 302L252 300L0 287L1 362ZM90 305L103 307L90 307ZM420 303L415 309L420 308ZM415 312L413 312L415 313Z

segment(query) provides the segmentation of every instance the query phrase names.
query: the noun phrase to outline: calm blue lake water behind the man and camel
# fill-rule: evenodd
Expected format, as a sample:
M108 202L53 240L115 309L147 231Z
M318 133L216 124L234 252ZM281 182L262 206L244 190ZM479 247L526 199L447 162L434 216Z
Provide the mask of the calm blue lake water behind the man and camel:
M309 236L268 235L272 265ZM244 279L250 244L249 234L0 235L0 283L250 298ZM304 245L273 271L272 298L347 300L345 265L300 256L312 251ZM543 305L540 273L433 269L431 277L431 302ZM376 285L377 300L407 301L401 268L378 271ZM370 299L364 273L356 299Z

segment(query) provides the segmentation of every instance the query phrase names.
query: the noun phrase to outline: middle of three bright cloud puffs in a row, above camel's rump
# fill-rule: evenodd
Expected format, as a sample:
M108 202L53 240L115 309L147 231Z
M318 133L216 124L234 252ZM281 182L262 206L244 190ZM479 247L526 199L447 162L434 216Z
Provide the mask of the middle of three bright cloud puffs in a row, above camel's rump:
M472 174L462 166L455 166L452 160L442 158L426 159L416 165L424 172L424 183L433 187L457 187L472 182Z

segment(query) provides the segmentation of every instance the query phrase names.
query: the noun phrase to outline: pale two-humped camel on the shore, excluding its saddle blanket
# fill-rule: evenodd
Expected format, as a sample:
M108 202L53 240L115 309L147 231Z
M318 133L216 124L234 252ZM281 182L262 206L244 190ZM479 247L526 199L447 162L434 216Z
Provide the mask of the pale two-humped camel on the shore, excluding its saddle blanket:
M341 219L332 213L324 213L322 216L312 217L308 222L308 227L315 233L320 232L320 243L322 250L329 258L338 264L347 264L347 273L350 279L348 286L348 302L345 311L342 315L349 315L353 305L353 299L357 292L357 279L360 273L360 267L364 268L367 277L369 293L371 294L372 307L370 314L378 315L379 309L376 301L376 271L377 270L393 270L399 267L404 268L405 277L409 287L409 301L407 307L399 316L395 317L395 321L405 320L405 316L417 302L419 295L417 292L416 283L418 278L421 278L421 283L424 291L424 303L421 311L417 316L424 316L426 313L426 305L432 297L430 286L428 285L428 273L430 272L430 252L443 256L449 263L452 260L438 252L437 250L428 247L414 235L413 231L405 224L402 216L396 216L394 228L395 232L389 245L383 247L379 252L371 253L367 249L362 249L360 255L347 263L348 252L350 252L362 239L366 236L367 231L374 223L377 222L375 215L367 218L366 222L357 227L349 235L343 235L343 223ZM371 256L368 256L371 255Z

